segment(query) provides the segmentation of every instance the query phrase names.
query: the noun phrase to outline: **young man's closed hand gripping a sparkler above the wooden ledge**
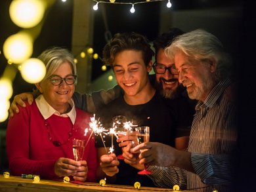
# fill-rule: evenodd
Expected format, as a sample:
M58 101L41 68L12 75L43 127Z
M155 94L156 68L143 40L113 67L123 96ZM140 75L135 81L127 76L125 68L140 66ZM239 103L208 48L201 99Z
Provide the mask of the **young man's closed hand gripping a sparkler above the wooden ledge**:
M119 161L114 153L110 155L102 155L100 157L100 167L107 176L114 176L119 172L118 166Z

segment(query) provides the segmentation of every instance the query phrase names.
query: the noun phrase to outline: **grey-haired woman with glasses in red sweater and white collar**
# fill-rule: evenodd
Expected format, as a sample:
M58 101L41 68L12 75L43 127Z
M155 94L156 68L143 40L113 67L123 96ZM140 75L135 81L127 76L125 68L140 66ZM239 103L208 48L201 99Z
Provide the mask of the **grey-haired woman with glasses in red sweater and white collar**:
M75 108L72 95L77 78L74 57L64 48L49 48L39 59L45 78L35 84L39 96L9 119L7 155L11 174L38 174L41 178L72 176L96 182L95 140L85 135L91 115ZM85 140L81 161L74 160L72 140ZM87 142L88 141L88 142Z

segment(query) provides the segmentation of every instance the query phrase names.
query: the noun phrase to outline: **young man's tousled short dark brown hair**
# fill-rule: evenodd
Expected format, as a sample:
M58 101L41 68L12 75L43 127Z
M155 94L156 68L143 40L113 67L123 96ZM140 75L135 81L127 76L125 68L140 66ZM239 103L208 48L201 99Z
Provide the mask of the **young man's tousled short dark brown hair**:
M148 43L148 39L135 32L116 33L114 37L103 48L103 62L112 66L116 55L123 50L142 51L144 63L148 65L154 51Z

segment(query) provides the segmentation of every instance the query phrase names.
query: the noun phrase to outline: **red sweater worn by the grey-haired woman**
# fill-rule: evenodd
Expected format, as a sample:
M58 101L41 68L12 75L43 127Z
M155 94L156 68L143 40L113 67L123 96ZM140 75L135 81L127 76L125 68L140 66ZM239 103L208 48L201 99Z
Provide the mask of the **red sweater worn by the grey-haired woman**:
M19 107L20 113L9 119L7 127L7 155L9 168L12 175L38 174L45 179L61 179L54 173L54 163L60 157L74 159L72 151L72 140L89 139L90 132L85 134L85 128L89 128L91 115L80 109L76 110L74 130L70 141L68 132L72 130L72 122L68 117L52 115L47 119L49 132L53 141L61 144L56 147L48 138L45 119L39 112L35 102L32 106L26 104L26 108ZM87 182L96 182L97 152L95 148L94 135L85 147L83 160L87 161Z

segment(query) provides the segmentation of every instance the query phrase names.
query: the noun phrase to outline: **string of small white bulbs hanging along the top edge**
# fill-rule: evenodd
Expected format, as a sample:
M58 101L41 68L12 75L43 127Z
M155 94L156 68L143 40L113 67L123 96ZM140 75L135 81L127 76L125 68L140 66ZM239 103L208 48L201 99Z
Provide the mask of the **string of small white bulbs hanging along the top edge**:
M146 0L146 1L139 1L139 2L136 2L136 3L129 3L129 2L116 2L116 0L109 0L109 1L96 1L96 0L93 0L96 2L96 4L93 6L93 9L94 10L98 10L98 3L108 3L108 4L121 4L121 5L131 5L131 9L130 9L130 12L131 13L134 13L135 12L135 5L136 4L140 4L140 3L152 3L152 2L156 2L156 1L166 1L166 0ZM171 2L170 0L168 0L168 3L166 5L168 8L171 7Z

